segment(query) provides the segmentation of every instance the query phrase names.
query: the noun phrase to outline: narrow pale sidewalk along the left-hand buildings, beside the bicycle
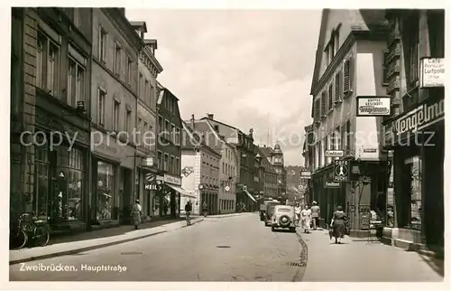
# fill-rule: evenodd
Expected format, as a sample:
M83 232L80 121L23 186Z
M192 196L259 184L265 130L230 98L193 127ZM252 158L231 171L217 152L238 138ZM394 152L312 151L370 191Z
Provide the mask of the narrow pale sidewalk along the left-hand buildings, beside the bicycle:
M193 224L204 218L193 218ZM144 239L170 230L177 230L186 226L182 219L169 221L152 221L143 223L140 230L133 230L133 225L122 225L105 230L82 232L77 235L51 239L45 247L18 249L9 251L9 264L19 264L27 261L66 256L92 249L106 248L136 239Z

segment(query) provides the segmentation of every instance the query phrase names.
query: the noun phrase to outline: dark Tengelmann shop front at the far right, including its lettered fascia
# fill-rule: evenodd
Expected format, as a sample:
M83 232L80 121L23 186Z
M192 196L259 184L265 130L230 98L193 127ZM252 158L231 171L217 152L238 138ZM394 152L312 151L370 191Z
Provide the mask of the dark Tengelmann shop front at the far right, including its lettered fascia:
M430 95L390 125L391 172L385 239L429 248L444 246L445 103Z

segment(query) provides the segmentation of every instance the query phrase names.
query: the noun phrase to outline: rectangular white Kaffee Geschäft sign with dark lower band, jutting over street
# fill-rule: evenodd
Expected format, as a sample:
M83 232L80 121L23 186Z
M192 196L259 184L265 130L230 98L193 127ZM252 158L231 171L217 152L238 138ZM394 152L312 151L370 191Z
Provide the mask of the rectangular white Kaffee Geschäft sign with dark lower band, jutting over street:
M358 96L357 117L385 117L391 112L391 97Z

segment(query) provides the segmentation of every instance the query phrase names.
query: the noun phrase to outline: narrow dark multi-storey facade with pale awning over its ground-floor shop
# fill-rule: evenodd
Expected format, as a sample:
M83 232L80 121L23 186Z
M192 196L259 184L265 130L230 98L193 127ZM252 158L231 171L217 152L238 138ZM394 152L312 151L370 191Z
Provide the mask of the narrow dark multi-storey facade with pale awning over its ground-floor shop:
M181 118L179 99L157 82L158 139L157 159L160 183L155 197L154 216L177 216L180 209L181 189Z

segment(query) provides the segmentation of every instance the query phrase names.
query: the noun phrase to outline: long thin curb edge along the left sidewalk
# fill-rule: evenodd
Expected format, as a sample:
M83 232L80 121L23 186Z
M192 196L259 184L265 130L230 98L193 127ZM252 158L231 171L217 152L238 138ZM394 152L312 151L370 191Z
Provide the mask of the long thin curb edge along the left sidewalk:
M204 221L203 219L198 220L198 221L194 221L192 224L198 223ZM175 222L177 223L177 222ZM192 225L191 224L191 225ZM187 227L186 225L182 225L180 227ZM143 236L138 236L138 237L134 237L134 238L130 238L130 239L119 239L119 240L115 240L115 241L111 241L111 242L106 242L103 244L99 244L99 245L94 245L94 246L88 246L88 247L83 247L83 248L78 248L78 249L69 249L69 250L62 250L62 251L58 251L58 252L54 252L51 254L45 254L45 255L38 255L35 257L29 257L29 258L19 258L19 259L14 259L14 260L10 260L9 261L9 265L17 265L20 263L26 263L26 262L31 262L33 260L38 260L38 259L46 259L46 258L55 258L55 257L62 257L62 256L68 256L68 255L74 255L74 254L78 254L84 251L88 251L88 250L93 250L93 249L103 249L103 248L107 248L107 247L111 247L111 246L115 246L115 245L119 245L122 243L127 243L133 240L138 240L138 239L146 239L161 233L165 233L168 232L170 230L161 230L161 231L157 231L157 232L153 232L153 233L149 233Z

